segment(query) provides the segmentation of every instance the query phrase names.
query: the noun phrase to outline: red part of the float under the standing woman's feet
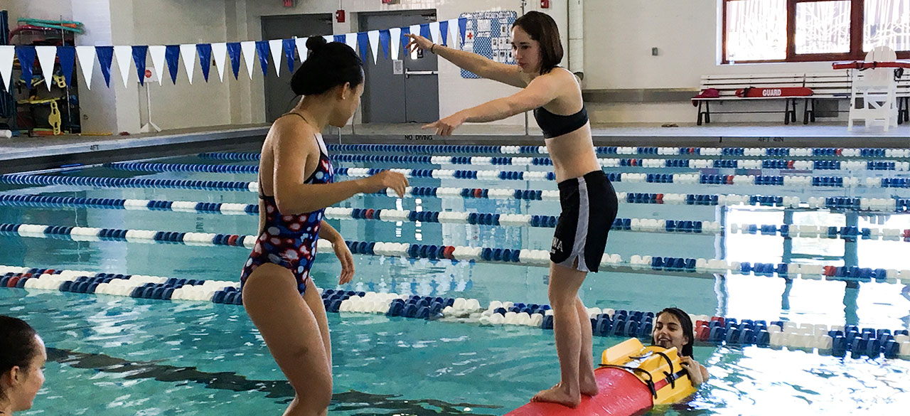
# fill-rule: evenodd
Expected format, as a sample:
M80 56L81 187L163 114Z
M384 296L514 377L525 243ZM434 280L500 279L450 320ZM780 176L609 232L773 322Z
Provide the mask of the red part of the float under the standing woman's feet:
M575 409L556 403L531 402L506 416L632 416L652 408L653 399L647 386L631 372L612 368L594 370L600 393L581 395Z

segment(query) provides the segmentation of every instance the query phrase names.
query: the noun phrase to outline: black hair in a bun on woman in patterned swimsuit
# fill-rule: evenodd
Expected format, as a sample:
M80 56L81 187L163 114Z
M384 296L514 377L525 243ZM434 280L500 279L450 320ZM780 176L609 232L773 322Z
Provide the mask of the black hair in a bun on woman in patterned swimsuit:
M307 39L307 60L291 76L290 87L298 96L318 96L335 86L363 83L363 60L350 46L326 42L322 36Z

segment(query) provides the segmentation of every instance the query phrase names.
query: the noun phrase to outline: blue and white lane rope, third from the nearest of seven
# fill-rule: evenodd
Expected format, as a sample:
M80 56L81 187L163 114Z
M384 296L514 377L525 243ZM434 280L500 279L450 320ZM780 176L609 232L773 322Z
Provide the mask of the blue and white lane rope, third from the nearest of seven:
M258 215L252 204L167 201L147 199L47 197L42 195L0 195L0 206L79 207L108 209L168 210L221 215ZM387 222L411 221L504 227L554 228L558 217L531 214L493 214L456 211L412 211L408 209L326 208L329 219L374 219ZM786 224L731 224L723 228L717 221L656 218L616 218L612 229L618 231L723 235L724 233L760 234L784 238L844 238L910 241L910 228L825 227Z

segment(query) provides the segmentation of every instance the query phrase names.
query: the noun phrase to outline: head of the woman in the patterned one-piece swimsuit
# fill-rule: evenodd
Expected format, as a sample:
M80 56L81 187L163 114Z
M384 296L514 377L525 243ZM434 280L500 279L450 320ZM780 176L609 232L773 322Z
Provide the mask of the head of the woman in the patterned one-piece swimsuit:
M329 125L348 124L363 94L363 61L350 46L327 43L321 36L307 39L307 60L294 72L290 87L298 96L320 96L332 106Z

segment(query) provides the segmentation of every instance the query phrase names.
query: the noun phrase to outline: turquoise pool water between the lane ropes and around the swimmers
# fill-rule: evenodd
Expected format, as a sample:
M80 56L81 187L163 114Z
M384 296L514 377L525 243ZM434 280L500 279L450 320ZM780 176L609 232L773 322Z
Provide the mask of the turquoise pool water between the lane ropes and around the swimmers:
M166 163L249 164L194 156ZM367 166L344 163L345 167ZM369 164L369 167L390 167ZM474 168L474 167L443 167ZM477 167L493 168L500 167ZM504 167L518 170L517 167ZM546 170L528 167L528 170ZM622 171L638 171L623 167ZM608 169L609 170L609 169ZM620 171L613 169L613 171ZM688 171L651 169L654 173ZM108 178L170 178L254 181L251 174L142 173L86 167L49 175ZM340 177L346 180L349 178ZM412 186L553 189L551 181L413 178ZM12 186L13 194L256 203L252 192L177 188ZM867 198L906 198L903 189L724 187L626 183L620 192L697 192L827 196L864 193ZM876 194L876 192L878 194ZM807 194L809 193L809 194ZM880 194L880 195L879 195ZM403 208L558 215L558 201L484 198L389 198L358 196L350 208ZM621 204L622 218L684 218L723 223L796 224L842 227L847 221L875 227L910 228L905 215L857 216L828 211L786 214L783 208ZM329 220L349 240L548 249L552 228L470 224ZM0 208L0 223L66 227L154 229L254 234L255 216L101 208ZM0 264L81 269L186 279L238 279L248 249L74 241L0 235ZM727 234L679 235L613 231L608 253L736 261L803 262L873 269L910 269L905 241L794 238ZM547 303L547 270L489 263L452 263L355 256L355 281L345 289L388 290L423 296ZM339 263L319 255L313 279L335 288ZM905 285L755 276L674 276L658 271L600 272L580 293L588 307L659 310L678 306L693 314L753 320L855 324L873 328L910 326L910 292ZM40 289L0 289L0 313L28 320L45 338L47 381L24 414L280 414L293 391L269 356L258 331L240 306L86 295ZM329 313L334 364L331 414L501 415L528 401L558 379L551 330L480 326L446 320L413 320ZM622 339L595 337L594 354ZM910 361L845 358L811 351L759 347L697 346L695 359L712 378L690 401L651 414L836 414L895 413L910 405Z

